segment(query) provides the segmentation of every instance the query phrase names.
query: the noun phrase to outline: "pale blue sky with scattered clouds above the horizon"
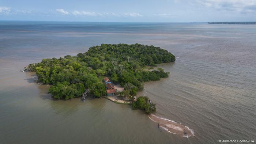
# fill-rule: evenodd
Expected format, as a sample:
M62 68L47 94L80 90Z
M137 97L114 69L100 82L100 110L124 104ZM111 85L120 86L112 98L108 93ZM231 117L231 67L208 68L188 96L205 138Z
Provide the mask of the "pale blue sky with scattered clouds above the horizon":
M256 0L0 0L0 20L256 21Z

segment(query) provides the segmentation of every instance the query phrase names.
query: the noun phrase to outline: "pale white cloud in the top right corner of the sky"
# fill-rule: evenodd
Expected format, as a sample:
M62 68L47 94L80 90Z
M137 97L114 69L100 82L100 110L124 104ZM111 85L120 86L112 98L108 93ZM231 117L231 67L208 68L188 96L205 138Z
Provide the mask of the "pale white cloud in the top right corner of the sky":
M197 0L197 3L217 10L256 13L256 0Z

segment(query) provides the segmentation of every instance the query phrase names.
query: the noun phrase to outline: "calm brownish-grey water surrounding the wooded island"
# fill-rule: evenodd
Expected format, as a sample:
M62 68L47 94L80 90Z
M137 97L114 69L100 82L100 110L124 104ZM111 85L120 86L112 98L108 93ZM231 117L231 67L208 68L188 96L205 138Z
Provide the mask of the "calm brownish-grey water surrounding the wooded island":
M158 117L188 126L182 137L107 99L53 100L49 86L19 72L42 58L75 56L101 43L141 43L172 52L170 76L144 83ZM256 139L256 25L0 22L1 144L214 144Z

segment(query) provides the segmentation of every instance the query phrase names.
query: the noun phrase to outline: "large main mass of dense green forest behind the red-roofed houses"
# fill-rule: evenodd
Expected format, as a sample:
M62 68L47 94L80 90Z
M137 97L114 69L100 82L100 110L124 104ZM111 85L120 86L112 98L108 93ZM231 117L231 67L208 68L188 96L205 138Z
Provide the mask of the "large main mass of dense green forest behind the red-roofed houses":
M136 95L143 89L143 82L169 75L163 69L145 71L142 68L173 61L173 54L154 46L102 44L77 56L43 59L25 69L35 71L38 82L52 84L49 93L54 98L70 99L81 96L86 88L90 88L95 97L105 96L105 85L100 76L109 76L112 82L120 83L125 87L124 95Z

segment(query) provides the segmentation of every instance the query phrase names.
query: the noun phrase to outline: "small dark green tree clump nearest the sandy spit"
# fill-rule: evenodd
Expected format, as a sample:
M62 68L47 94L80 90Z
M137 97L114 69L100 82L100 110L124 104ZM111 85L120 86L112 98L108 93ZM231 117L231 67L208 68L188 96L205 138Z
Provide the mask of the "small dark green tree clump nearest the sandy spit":
M147 114L156 110L155 104L150 104L147 96L139 96L137 101L132 102L132 108L144 110Z

